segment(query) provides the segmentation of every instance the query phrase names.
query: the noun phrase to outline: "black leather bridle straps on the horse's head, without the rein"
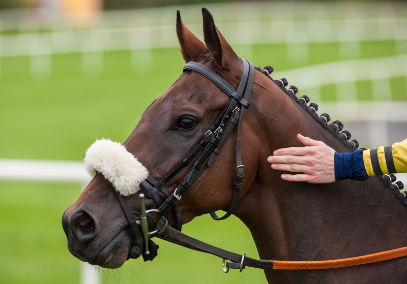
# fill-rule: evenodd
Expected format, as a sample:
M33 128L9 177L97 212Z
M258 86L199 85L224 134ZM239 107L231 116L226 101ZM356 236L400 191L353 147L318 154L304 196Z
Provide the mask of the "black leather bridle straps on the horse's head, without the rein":
M181 231L182 228L182 218L181 218L181 209L177 203L182 195L189 190L192 184L200 177L200 175L207 169L210 168L215 162L216 157L223 148L227 138L231 134L232 130L235 128L235 125L238 125L237 129L237 147L236 147L236 172L235 180L233 185L233 196L229 206L229 209L222 217L218 217L215 212L211 213L212 218L215 220L223 220L230 216L235 210L236 205L239 199L239 193L243 186L242 181L244 177L242 159L241 159L241 130L243 124L243 118L246 112L246 109L250 106L249 98L254 81L254 66L251 62L241 59L243 63L243 74L238 85L238 88L235 90L230 84L228 84L224 79L222 79L215 72L210 70L208 67L199 64L198 62L188 62L183 72L192 70L202 76L205 76L212 83L218 86L223 92L230 97L230 100L220 115L212 123L209 130L202 136L200 141L196 144L194 149L185 157L185 159L175 167L170 173L168 173L161 180L157 181L152 176L140 183L140 187L146 192L146 195L149 199L153 200L158 209L153 209L161 216L166 216L170 210L174 212L176 218L176 229ZM185 175L183 180L177 186L176 190L171 193L166 187L165 184L175 175L177 175L182 169L188 166L194 159L195 162L191 166L188 173ZM144 260L152 260L153 255L150 255L151 251L155 252L155 244L148 239L148 236L152 232L148 232L147 223L141 224L144 222L143 218L146 217L148 212L152 210L142 210L140 219L135 220L128 209L124 197L121 196L116 190L115 192L119 203L122 207L122 210L126 216L126 219L130 227L130 235L132 239L132 248L130 250L129 257L137 258L140 256L141 251ZM161 199L160 193L165 196L164 201ZM141 198L142 207L143 197ZM142 226L143 225L143 226ZM144 237L141 237L138 227L142 227ZM144 240L143 240L144 239ZM149 243L147 243L147 241ZM142 243L144 242L144 248Z

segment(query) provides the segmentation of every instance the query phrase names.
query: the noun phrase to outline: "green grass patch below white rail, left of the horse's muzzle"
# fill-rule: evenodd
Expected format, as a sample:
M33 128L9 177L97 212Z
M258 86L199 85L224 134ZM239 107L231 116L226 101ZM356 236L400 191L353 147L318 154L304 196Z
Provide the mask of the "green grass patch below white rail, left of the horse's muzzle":
M60 223L78 193L75 184L0 183L0 282L77 282Z

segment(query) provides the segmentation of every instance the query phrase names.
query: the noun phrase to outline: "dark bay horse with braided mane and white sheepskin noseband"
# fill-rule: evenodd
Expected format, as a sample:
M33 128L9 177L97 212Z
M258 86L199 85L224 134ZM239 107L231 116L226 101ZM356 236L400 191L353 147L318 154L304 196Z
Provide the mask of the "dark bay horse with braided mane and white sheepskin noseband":
M215 219L242 220L262 260L332 260L407 245L407 202L388 178L311 184L284 181L270 169L275 149L301 146L297 133L340 152L358 143L347 141L340 122L318 117L306 97L297 99L285 79L273 80L272 68L241 59L210 12L203 8L202 15L205 43L177 13L187 65L124 144L101 140L86 152L94 178L62 217L70 252L106 268L140 255L152 260L151 238L167 237L159 224L179 233L182 224L218 210L227 213ZM396 258L264 273L269 283L406 283L406 264Z

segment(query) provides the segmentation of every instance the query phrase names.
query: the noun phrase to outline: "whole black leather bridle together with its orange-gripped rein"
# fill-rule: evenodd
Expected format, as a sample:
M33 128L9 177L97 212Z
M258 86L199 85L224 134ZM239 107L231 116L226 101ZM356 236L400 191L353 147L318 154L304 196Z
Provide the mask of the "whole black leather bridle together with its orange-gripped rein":
M246 266L260 269L284 269L284 270L304 270L304 269L331 269L339 267L347 267L354 265L367 264L372 262L385 261L407 256L407 246L393 250L383 251L381 253L348 258L339 260L327 261L274 261L274 260L256 260L246 257L245 254L239 255L230 251L212 246L205 242L191 238L181 233L181 209L177 201L182 195L189 190L192 184L199 176L209 167L211 167L220 153L230 133L235 125L237 129L237 148L236 148L236 172L234 181L233 196L228 210L225 215L218 217L216 213L211 213L215 220L222 220L230 216L238 203L239 193L242 188L244 177L243 164L241 159L241 130L243 118L246 109L249 107L250 92L254 81L254 66L251 62L241 59L243 62L243 74L235 90L219 75L212 70L197 62L188 62L184 67L184 72L192 70L205 76L225 92L230 100L220 115L215 119L210 129L202 136L194 149L185 157L185 159L175 167L164 178L157 181L152 176L140 183L140 187L146 192L149 199L153 200L158 209L146 210L144 205L144 194L139 194L141 201L141 213L139 218L134 218L127 207L124 197L115 190L112 185L113 192L117 196L122 207L124 215L129 223L129 234L131 239L131 248L128 258L138 258L143 256L144 261L153 260L157 255L158 245L156 245L149 237L155 235L163 240L182 245L187 248L209 253L223 259L222 267L224 272L228 272L230 268L239 269L242 271ZM172 177L177 175L182 169L188 166L194 159L188 173L177 186L176 190L171 193L164 186ZM165 196L164 201L161 195ZM172 210L176 218L176 229L168 224L167 214ZM161 216L161 219L156 225L156 230L149 232L147 214L156 212ZM141 227L142 236L139 228ZM227 262L226 262L227 260Z

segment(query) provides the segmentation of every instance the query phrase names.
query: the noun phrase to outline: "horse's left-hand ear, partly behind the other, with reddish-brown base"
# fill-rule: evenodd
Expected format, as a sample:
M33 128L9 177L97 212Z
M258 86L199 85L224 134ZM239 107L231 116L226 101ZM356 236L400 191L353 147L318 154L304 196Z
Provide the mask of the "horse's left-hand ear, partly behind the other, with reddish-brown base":
M207 51L201 42L182 22L181 13L177 10L177 36L181 46L181 54L185 62L197 61L197 58Z

